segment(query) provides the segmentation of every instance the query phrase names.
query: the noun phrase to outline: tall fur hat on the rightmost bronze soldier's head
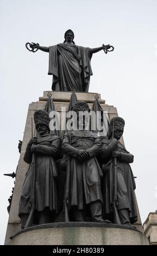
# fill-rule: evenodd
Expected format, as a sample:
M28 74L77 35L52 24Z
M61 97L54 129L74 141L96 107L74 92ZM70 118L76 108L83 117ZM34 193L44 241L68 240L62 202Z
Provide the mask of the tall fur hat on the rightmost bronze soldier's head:
M109 138L112 136L113 127L115 132L116 130L124 130L124 125L125 125L125 121L123 118L121 117L112 118L109 124Z

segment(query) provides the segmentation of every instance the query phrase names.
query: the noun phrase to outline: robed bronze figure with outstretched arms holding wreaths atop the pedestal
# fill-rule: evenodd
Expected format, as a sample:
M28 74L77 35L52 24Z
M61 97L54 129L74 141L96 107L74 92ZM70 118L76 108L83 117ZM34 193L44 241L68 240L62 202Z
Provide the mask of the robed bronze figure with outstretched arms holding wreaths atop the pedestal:
M43 47L39 44L30 44L26 47L29 51L35 52L38 49L49 52L48 75L53 75L52 90L88 92L90 76L92 75L91 63L92 54L104 50L105 53L113 51L111 45L102 45L98 48L77 46L73 39L74 33L71 29L65 32L63 43ZM32 50L30 50L32 48Z

